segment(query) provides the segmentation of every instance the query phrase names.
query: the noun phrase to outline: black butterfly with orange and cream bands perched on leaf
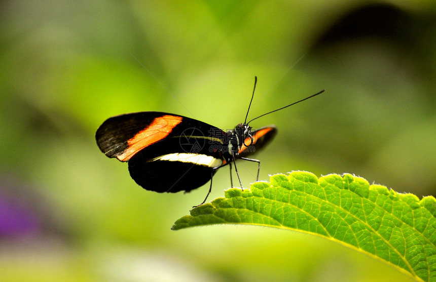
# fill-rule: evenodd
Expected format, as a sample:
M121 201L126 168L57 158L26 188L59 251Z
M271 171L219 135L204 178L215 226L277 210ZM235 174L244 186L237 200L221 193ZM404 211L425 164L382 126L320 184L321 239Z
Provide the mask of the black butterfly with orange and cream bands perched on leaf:
M257 77L255 77L256 89ZM95 138L100 150L108 157L127 162L132 179L144 189L156 192L191 191L210 180L209 191L200 204L206 202L212 189L216 171L232 164L236 159L258 164L260 160L248 158L265 147L277 134L275 126L253 130L249 123L266 114L284 109L321 94L324 90L285 107L267 112L227 132L200 120L167 112L144 111L110 117L97 129ZM199 206L200 206L199 205Z

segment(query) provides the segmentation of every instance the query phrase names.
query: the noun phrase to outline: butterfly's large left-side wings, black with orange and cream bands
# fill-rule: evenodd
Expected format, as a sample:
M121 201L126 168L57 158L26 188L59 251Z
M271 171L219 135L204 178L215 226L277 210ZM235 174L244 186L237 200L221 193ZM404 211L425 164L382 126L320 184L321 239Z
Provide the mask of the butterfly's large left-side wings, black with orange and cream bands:
M108 118L97 130L100 150L129 163L130 176L147 190L190 191L223 163L214 148L225 132L189 117L137 112ZM220 136L221 135L221 136Z

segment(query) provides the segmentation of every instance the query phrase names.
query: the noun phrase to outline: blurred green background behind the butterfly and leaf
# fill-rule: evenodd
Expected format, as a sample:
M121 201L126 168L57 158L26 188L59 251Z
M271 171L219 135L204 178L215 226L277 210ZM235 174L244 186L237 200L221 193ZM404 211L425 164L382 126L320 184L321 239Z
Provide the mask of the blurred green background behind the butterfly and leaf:
M279 129L260 179L347 172L435 195L434 1L2 1L0 19L0 280L410 281L308 234L171 231L208 184L143 190L94 133L150 110L233 128L257 75L250 117L326 89L251 124ZM229 186L220 170L209 199Z

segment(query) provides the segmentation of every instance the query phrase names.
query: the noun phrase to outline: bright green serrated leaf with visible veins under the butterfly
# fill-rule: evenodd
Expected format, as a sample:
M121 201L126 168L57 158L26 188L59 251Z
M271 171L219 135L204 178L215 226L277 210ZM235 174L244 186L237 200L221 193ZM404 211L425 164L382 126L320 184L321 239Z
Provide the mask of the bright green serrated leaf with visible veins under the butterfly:
M171 229L250 224L335 240L379 258L416 280L436 281L436 200L421 200L350 174L271 176L250 189L231 188L178 219Z

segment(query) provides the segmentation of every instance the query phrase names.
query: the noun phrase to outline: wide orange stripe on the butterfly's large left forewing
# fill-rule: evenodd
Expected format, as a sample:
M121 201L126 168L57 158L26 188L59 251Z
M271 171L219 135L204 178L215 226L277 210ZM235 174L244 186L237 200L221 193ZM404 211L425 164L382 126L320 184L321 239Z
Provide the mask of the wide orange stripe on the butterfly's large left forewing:
M149 127L127 141L128 147L117 158L121 162L127 162L138 151L167 137L172 129L181 123L181 119L181 116L174 115L156 117Z

